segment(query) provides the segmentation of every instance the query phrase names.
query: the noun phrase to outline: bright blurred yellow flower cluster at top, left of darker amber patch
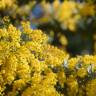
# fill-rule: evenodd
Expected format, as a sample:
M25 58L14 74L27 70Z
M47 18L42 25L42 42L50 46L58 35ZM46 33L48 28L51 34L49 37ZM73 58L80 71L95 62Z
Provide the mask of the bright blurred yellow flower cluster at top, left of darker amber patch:
M80 7L81 5L74 1L64 1L60 3L58 0L55 0L53 3L54 16L63 28L74 31L78 20L80 20Z

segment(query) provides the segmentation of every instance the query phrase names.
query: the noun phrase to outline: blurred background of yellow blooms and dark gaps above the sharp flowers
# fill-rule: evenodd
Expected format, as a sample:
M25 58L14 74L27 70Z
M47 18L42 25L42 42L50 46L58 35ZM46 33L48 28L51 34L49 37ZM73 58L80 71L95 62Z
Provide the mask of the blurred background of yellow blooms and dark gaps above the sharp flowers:
M96 0L0 0L0 27L21 21L71 56L96 54Z

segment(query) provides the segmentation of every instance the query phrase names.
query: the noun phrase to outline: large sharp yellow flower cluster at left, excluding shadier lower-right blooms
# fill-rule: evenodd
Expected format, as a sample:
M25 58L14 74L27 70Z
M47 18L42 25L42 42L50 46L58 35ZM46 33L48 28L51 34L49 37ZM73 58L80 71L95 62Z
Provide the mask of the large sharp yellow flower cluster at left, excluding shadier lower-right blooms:
M21 30L12 24L0 29L0 96L61 96L52 70L68 54L47 41L29 22L22 22Z

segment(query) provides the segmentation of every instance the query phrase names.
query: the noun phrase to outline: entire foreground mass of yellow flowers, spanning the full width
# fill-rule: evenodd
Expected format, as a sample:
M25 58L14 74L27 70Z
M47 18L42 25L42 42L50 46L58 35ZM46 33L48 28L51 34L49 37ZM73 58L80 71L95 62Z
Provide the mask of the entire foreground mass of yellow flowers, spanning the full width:
M0 29L0 96L95 96L96 55L69 58L29 22L21 27Z

